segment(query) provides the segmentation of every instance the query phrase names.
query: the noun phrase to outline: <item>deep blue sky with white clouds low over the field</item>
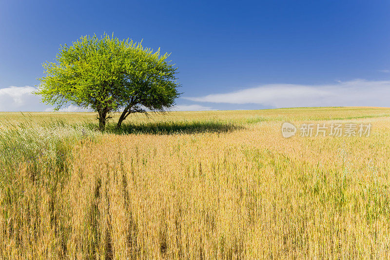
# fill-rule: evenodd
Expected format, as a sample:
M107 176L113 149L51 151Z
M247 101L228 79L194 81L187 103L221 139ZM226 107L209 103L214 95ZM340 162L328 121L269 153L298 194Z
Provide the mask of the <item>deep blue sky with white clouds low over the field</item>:
M0 111L59 45L112 33L172 52L178 110L390 106L390 1L1 1ZM64 110L72 110L72 107Z

